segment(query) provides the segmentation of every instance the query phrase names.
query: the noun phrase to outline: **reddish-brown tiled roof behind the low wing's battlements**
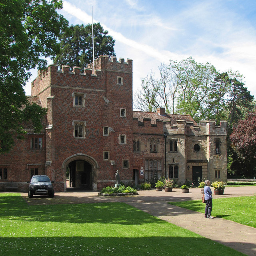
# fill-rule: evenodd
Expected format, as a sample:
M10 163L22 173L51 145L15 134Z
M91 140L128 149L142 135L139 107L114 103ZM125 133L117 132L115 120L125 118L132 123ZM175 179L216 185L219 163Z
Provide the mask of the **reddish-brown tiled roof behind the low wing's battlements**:
M156 123L156 119L158 120L171 120L171 124L176 124L176 120L178 119L184 119L186 122L194 122L194 125L196 125L196 122L190 115L180 115L180 114L167 114L160 115L156 112L142 112L142 111L133 111L133 117L138 118L140 122L143 122L144 118L150 118L152 124Z

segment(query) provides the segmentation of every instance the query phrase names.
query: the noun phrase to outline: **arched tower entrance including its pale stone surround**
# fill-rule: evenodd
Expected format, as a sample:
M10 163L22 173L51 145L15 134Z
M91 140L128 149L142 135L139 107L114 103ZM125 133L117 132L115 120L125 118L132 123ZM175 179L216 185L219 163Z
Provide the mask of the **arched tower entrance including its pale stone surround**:
M75 154L62 164L66 188L97 190L98 163L86 154Z

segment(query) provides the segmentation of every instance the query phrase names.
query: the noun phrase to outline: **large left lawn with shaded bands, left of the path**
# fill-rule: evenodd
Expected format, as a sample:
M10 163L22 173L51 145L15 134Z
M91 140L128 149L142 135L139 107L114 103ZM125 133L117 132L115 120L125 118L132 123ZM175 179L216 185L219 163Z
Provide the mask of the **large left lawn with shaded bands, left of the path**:
M29 206L14 193L0 194L0 236L1 256L244 255L124 203Z

